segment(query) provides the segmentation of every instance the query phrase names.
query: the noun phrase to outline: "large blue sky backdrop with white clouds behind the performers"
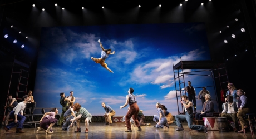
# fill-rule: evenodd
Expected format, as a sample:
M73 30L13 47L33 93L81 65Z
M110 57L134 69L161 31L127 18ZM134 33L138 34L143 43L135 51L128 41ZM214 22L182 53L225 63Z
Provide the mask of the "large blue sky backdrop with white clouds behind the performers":
M105 61L114 73L91 60L101 56L98 39L116 52ZM204 23L43 27L33 96L37 107L61 107L60 93L73 91L92 115L104 115L105 102L122 116L128 106L119 107L132 87L144 115L157 114L156 102L176 115L173 64L180 57L210 60ZM186 86L187 81L195 87L213 85L211 77L186 75ZM213 87L207 89L214 94Z

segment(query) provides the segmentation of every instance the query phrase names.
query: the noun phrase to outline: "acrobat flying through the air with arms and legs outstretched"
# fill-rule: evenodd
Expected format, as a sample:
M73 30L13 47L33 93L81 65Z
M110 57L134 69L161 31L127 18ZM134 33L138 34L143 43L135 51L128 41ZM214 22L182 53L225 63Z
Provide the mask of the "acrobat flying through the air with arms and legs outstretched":
M114 73L113 71L111 71L108 67L107 64L105 63L105 60L107 59L107 57L109 57L109 54L115 54L115 51L113 51L111 53L111 49L104 49L100 39L98 40L98 42L100 43L100 47L102 49L101 51L101 58L93 58L91 57L91 59L95 62L95 63L100 63L102 67L106 68L109 72Z

